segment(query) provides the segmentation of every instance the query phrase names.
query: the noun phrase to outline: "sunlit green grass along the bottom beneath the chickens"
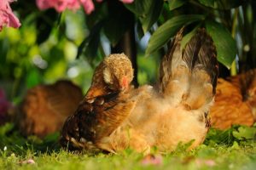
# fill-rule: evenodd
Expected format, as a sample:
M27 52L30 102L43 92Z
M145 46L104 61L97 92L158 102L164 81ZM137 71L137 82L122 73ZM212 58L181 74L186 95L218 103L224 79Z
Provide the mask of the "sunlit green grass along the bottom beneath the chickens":
M143 164L143 154L124 150L113 154L73 153L57 144L58 134L41 140L25 139L11 124L0 127L0 169L255 169L256 126L211 129L204 144L186 151L180 144L172 153L162 154L159 164ZM6 146L6 150L3 148ZM156 150L156 149L155 149ZM156 151L153 154L157 156ZM32 159L34 164L25 161ZM210 163L209 163L210 162ZM213 162L213 165L212 163Z

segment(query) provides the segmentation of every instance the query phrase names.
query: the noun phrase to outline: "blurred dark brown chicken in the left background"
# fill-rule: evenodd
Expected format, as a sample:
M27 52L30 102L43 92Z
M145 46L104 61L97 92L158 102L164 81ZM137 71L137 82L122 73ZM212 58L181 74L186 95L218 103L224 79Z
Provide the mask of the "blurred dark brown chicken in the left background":
M81 99L81 89L69 81L38 85L27 91L17 108L15 122L21 133L43 138L61 130L67 116L73 114Z

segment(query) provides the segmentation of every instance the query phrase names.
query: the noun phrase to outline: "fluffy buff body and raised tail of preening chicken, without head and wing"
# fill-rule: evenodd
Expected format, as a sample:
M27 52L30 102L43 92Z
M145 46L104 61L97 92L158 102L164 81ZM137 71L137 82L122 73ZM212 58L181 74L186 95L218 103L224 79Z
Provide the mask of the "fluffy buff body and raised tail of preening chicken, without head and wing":
M148 153L156 146L160 152L175 150L177 144L201 144L210 127L209 106L218 77L216 49L212 38L200 29L181 49L183 30L160 66L160 82L134 90L140 94L130 116L108 137L103 150L116 152L128 147Z

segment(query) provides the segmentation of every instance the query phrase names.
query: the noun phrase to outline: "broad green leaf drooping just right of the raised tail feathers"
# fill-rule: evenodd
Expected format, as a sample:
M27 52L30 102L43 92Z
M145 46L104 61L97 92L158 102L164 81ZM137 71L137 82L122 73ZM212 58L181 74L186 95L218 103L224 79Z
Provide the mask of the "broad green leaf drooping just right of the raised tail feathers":
M230 32L218 22L207 20L206 26L216 46L218 61L230 68L236 58L236 41L231 37Z

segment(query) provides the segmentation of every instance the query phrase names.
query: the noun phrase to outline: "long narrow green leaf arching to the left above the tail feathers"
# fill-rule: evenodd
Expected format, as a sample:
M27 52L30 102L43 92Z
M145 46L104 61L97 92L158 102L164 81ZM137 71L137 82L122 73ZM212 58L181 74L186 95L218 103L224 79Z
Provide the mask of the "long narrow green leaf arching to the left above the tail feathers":
M173 17L171 20L167 20L166 23L154 31L152 37L150 37L148 48L146 49L146 55L154 53L165 45L165 43L168 42L168 40L173 37L182 26L186 26L192 22L204 19L204 15L188 14L179 15Z

